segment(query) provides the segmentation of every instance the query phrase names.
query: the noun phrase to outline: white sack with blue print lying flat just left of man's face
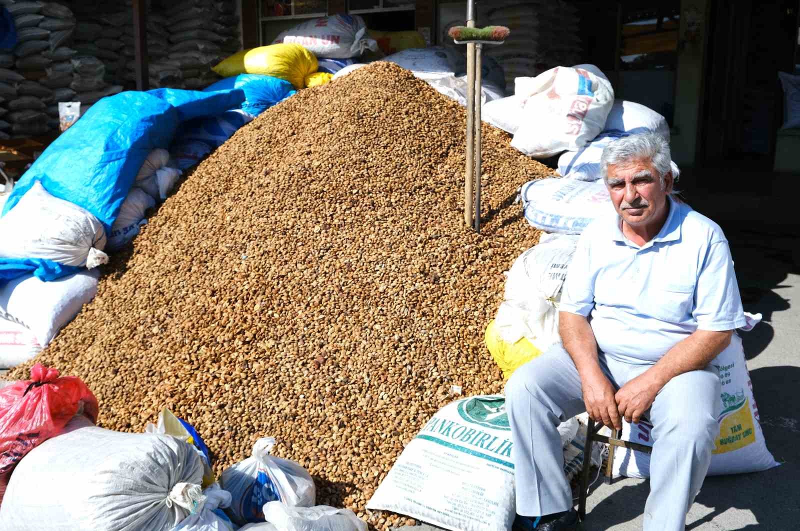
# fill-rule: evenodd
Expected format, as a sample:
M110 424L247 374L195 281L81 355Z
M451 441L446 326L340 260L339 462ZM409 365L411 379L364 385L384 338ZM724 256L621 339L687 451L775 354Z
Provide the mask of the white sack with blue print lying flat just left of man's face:
M522 185L520 196L528 223L550 233L581 234L595 218L614 212L602 181L538 179Z

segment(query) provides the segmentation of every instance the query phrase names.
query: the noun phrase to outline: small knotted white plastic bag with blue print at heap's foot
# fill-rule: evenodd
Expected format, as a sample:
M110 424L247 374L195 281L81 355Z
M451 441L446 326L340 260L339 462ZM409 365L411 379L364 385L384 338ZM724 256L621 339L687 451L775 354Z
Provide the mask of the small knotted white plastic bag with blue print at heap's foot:
M220 485L233 497L230 513L239 525L264 520L262 509L270 501L310 507L316 501L314 480L294 461L270 456L274 437L255 441L253 454L222 472Z

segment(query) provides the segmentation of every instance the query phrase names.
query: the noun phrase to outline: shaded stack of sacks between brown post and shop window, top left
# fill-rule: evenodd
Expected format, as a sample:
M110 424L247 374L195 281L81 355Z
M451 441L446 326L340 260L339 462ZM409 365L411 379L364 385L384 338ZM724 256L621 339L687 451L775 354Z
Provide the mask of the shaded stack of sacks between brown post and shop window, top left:
M174 70L180 71L180 86L189 90L218 81L211 67L241 48L236 2L185 0L170 6L164 14L166 26L162 27L168 30L169 40L164 50L168 54L157 67L164 66L169 74L158 74L166 77L155 80L155 86L169 85Z

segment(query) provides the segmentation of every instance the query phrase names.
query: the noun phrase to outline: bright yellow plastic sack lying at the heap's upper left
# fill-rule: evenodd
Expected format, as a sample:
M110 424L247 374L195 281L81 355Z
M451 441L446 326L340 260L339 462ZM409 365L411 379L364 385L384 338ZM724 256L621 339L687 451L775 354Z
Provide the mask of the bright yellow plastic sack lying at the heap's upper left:
M296 89L305 87L306 77L317 71L317 58L299 44L273 44L242 50L214 66L217 74L262 74L286 79Z

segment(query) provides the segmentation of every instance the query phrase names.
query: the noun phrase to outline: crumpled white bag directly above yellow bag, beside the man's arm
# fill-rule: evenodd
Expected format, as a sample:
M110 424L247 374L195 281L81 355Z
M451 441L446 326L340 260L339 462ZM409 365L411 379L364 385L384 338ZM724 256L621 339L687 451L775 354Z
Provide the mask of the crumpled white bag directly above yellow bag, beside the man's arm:
M522 337L545 352L561 341L558 301L577 236L562 235L522 253L506 273L506 290L494 325L503 341Z

